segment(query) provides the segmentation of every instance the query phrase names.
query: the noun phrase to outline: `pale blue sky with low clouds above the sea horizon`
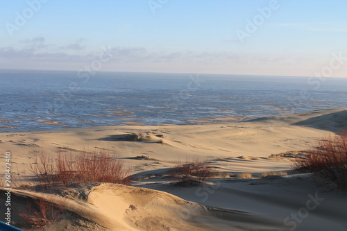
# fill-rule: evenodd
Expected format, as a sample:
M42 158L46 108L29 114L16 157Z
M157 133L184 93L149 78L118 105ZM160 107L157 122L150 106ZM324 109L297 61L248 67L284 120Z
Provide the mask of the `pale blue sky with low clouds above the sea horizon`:
M0 69L347 77L346 0L0 3Z

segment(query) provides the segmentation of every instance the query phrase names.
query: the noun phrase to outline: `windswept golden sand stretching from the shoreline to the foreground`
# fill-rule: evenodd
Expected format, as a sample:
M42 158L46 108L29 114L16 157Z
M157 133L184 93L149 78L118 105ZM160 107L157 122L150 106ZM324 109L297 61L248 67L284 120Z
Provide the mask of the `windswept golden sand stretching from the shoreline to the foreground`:
M28 165L42 151L53 157L115 151L133 169L138 181L132 187L83 185L56 196L33 187L13 190L16 207L37 197L66 207L51 230L347 230L346 193L310 173L291 171L296 155L346 127L347 108L342 108L219 124L2 133L0 150L12 153L14 178L29 176ZM169 169L195 157L212 166L215 178L195 187L172 186L165 178ZM260 178L270 171L287 176ZM235 178L239 173L252 178ZM64 203L57 195L65 196ZM2 192L0 199L2 205Z

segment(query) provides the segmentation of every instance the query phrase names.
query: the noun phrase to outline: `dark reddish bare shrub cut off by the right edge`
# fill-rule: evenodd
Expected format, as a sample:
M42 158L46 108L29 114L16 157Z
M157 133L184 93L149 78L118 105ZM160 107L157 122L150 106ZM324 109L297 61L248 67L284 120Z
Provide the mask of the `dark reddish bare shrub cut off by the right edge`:
M295 169L308 169L347 187L347 130L318 142L315 149L294 162Z

